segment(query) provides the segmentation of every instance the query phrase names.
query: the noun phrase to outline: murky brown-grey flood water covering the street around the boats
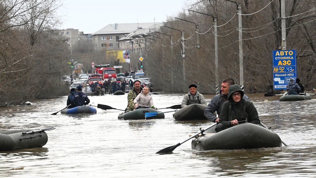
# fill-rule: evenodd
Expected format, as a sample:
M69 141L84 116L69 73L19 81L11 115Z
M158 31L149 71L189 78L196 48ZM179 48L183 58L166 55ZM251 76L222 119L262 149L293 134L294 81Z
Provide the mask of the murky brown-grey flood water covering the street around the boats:
M247 94L260 120L272 127L289 146L269 149L191 149L191 140L173 154L155 152L185 141L189 134L209 126L209 121L164 119L118 120L119 110L93 115L51 115L66 106L67 96L30 101L34 105L0 111L0 130L40 129L48 142L43 148L0 152L1 177L315 177L316 96L308 101L283 101L279 96ZM181 103L182 94L152 95L155 107ZM206 95L209 102L213 95ZM125 109L127 94L89 96L91 105ZM268 101L264 101L267 99ZM4 108L5 110L6 108ZM160 111L171 111L161 109ZM11 167L24 166L21 170Z

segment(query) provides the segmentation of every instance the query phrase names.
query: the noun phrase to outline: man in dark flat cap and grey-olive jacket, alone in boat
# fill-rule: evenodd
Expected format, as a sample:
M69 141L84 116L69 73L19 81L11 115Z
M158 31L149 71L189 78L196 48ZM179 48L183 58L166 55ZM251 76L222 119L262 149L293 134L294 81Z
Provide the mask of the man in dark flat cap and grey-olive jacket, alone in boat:
M190 92L186 94L181 102L181 108L184 108L187 105L192 104L202 104L207 105L207 102L205 101L205 98L202 94L197 92L197 86L194 84L191 84L189 86Z

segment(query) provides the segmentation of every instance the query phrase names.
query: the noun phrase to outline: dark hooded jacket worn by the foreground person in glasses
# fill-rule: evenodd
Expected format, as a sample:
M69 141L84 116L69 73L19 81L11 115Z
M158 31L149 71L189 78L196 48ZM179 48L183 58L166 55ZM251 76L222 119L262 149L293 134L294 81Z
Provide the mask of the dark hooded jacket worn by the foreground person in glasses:
M240 101L235 103L232 94L240 92ZM226 127L232 127L230 121L237 119L238 121L247 120L248 123L260 124L259 116L256 107L251 101L243 99L244 92L239 85L229 86L228 101L223 104L219 123ZM244 122L241 122L244 123Z

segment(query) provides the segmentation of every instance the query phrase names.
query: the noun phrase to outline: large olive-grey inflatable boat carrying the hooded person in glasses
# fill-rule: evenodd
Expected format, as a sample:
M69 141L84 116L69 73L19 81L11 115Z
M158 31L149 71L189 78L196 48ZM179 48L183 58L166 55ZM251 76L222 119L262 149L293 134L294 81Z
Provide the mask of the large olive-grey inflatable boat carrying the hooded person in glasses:
M251 123L238 124L217 133L202 134L191 142L191 148L199 151L281 146L281 138L276 133Z

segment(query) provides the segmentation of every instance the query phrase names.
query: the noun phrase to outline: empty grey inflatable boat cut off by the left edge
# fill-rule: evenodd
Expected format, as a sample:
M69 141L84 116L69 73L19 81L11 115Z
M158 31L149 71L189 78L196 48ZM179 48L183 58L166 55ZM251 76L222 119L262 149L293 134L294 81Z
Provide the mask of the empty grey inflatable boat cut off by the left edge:
M23 129L0 131L0 151L12 151L16 149L43 147L48 140L44 130L53 130L49 127L43 130Z

